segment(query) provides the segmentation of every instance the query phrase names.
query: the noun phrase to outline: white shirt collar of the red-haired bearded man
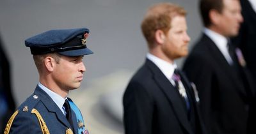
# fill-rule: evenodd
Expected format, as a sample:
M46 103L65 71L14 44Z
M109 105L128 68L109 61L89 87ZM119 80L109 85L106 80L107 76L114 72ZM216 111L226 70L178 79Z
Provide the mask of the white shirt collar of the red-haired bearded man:
M159 57L156 57L150 53L147 54L147 58L152 61L156 66L163 72L164 76L171 80L172 82L172 75L174 73L175 68L177 68L177 64L171 64Z

